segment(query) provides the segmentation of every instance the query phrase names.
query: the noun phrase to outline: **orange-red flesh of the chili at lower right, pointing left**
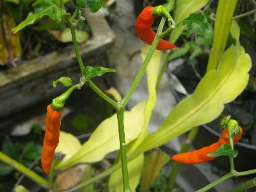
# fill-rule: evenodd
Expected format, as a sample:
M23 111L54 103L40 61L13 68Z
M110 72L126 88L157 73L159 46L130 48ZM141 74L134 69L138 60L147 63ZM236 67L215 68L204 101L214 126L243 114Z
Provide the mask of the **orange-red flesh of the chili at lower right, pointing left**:
M240 126L239 126L239 129L240 129L240 134L236 138L233 138L234 145L237 143L237 141L241 139L241 136L243 133L243 129ZM218 142L213 143L208 147L200 148L193 152L177 154L175 156L172 156L172 160L177 161L179 163L184 163L184 164L196 164L196 163L204 163L205 161L211 161L215 157L209 157L207 155L211 154L212 152L220 148L221 145L223 145L224 143L229 144L227 128L223 130Z

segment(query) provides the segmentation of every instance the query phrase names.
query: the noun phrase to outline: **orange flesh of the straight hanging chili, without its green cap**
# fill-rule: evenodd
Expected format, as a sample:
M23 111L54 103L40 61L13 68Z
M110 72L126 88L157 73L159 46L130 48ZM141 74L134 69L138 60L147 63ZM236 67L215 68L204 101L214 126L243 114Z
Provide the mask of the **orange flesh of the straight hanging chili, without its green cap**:
M47 118L45 120L44 145L41 156L42 168L49 174L54 151L59 143L61 111L53 111L51 105L47 106Z

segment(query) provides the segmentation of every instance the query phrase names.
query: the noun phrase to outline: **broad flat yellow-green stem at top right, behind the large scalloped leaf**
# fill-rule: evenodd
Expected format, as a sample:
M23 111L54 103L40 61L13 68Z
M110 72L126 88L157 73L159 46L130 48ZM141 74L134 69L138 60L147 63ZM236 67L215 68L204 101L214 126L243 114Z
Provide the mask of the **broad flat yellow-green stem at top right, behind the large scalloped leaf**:
M216 69L220 63L221 56L227 44L230 33L231 19L236 8L237 0L226 1L220 0L216 12L214 24L214 38L209 55L206 72Z

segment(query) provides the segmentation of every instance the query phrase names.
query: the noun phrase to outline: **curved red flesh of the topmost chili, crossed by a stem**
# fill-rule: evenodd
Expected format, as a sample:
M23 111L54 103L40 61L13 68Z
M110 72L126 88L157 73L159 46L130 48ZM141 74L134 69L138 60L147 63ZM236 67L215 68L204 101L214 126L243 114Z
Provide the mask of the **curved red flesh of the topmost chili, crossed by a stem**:
M155 16L152 15L153 7L147 6L138 16L135 23L136 33L140 39L148 45L152 45L156 33L152 30L151 26L155 20ZM164 15L164 14L163 14ZM161 39L156 49L158 50L168 50L176 47L170 42Z

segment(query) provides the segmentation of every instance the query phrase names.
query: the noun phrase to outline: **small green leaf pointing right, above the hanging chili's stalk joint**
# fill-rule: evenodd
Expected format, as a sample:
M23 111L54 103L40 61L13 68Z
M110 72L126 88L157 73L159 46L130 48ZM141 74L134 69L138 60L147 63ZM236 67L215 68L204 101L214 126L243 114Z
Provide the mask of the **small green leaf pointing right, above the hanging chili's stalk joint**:
M113 68L105 68L105 67L91 67L87 66L83 68L83 75L88 81L92 77L103 76L106 72L116 72Z

